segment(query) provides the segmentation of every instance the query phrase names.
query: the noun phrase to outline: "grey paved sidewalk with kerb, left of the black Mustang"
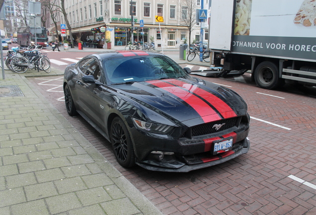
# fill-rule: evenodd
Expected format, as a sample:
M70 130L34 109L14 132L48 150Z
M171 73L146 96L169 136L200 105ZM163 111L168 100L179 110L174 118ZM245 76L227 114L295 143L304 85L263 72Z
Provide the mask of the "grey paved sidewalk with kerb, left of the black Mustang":
M61 73L52 68L46 75ZM0 157L0 215L161 214L24 75L11 71L0 79Z

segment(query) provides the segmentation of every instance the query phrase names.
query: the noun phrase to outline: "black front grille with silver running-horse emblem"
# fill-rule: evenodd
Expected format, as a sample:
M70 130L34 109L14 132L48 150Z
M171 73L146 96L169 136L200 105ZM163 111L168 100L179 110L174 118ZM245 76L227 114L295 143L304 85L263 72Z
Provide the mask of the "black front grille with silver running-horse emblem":
M191 134L189 134L189 136L201 136L201 135L206 135L206 134L212 134L212 133L223 131L223 130L236 126L237 120L238 120L238 117L234 117L234 118L222 119L219 121L199 124L199 125L195 125L191 127L190 129L187 130L187 132L191 131ZM217 125L222 125L222 126L218 130L216 130ZM187 132L182 134L181 137L187 136Z

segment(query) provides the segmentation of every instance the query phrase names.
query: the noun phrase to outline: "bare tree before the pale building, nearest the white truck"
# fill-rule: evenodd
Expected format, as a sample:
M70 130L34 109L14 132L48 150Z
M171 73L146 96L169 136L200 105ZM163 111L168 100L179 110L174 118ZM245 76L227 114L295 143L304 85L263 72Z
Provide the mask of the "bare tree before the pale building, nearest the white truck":
M191 33L194 30L194 26L196 23L196 9L197 2L196 0L180 0L180 12L179 20L180 25L185 26L189 30L189 45L191 44Z

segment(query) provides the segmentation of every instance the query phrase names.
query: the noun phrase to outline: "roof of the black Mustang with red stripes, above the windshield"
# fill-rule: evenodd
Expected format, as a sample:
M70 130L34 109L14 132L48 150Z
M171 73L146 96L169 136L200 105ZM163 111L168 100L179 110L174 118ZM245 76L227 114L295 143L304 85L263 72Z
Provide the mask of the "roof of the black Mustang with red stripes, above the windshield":
M100 60L104 60L107 58L117 58L117 57L133 57L133 56L148 56L148 55L161 55L158 52L150 52L150 51L143 51L143 50L116 50L116 51L105 51L105 52L98 52L95 54L91 54L88 56L95 56ZM86 57L88 57L86 56Z

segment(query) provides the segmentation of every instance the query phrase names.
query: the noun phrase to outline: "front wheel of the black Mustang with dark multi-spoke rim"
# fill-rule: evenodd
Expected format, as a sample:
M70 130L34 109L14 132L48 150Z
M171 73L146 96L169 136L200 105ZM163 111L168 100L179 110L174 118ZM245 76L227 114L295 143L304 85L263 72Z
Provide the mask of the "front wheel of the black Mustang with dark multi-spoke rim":
M111 143L117 162L122 167L135 165L134 147L130 134L123 120L115 117L111 124Z

